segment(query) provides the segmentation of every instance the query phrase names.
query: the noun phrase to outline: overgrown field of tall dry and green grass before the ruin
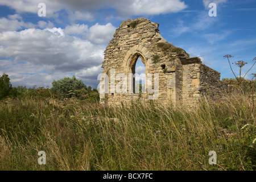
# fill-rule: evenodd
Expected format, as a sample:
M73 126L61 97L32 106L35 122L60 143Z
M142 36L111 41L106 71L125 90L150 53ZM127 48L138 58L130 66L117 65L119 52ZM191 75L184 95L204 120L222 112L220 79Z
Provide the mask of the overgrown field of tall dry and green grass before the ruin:
M246 96L195 109L9 98L0 101L0 170L255 170L251 110Z

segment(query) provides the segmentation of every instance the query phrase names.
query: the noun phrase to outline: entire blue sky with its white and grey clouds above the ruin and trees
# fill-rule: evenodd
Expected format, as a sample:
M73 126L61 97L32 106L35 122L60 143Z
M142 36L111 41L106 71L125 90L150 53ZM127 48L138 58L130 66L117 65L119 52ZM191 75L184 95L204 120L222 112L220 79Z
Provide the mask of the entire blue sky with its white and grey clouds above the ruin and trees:
M46 5L45 17L38 15L39 3ZM209 3L216 3L217 16L209 16ZM0 74L9 75L13 86L51 87L53 79L75 75L97 88L115 29L139 17L159 23L164 39L200 57L221 78L234 77L224 55L246 61L242 73L256 57L255 0L1 0Z

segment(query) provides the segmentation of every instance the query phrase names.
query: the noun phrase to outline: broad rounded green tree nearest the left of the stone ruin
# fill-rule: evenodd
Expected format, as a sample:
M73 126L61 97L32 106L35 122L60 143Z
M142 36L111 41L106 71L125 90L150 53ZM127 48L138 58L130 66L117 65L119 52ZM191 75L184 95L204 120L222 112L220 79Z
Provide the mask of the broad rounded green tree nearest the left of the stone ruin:
M82 80L79 80L73 75L72 78L64 77L60 80L53 80L52 81L52 92L59 93L62 97L72 97L71 94L69 94L71 90L80 90L85 89L87 90L86 85Z

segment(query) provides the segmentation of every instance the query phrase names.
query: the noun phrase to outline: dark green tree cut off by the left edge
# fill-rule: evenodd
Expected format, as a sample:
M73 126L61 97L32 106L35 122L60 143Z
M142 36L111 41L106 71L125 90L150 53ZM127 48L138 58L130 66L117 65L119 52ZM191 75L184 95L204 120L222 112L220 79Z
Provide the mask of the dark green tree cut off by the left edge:
M0 77L0 100L10 95L12 85L8 75L3 73Z

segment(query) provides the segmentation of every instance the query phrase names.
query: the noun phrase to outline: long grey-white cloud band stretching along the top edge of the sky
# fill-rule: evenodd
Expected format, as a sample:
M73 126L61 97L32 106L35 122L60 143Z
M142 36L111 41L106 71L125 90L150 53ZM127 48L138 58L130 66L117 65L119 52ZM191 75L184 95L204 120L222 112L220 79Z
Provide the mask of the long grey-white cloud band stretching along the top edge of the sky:
M98 10L102 7L108 7L117 11L119 16L133 15L159 15L167 13L176 13L184 10L187 5L181 0L2 0L0 5L9 6L18 13L38 13L38 4L46 4L47 16L53 16L62 9L69 10L69 18L72 20L93 20L94 15L89 11ZM75 13L72 13L74 12ZM85 11L85 12L84 12Z

